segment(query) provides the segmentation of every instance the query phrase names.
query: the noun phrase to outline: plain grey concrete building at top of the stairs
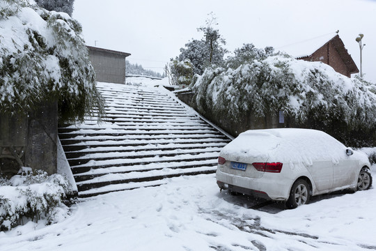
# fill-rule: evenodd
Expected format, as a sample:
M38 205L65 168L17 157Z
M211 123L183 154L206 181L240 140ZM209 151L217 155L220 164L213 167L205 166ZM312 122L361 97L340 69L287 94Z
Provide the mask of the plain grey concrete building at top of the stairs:
M125 84L125 58L129 53L91 46L88 50L97 82Z

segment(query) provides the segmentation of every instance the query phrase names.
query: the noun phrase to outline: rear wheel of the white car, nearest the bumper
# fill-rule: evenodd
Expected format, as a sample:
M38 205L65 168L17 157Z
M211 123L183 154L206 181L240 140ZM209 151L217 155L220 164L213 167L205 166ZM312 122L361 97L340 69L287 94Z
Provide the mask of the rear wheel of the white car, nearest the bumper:
M290 197L286 201L287 208L297 208L298 206L308 204L311 191L309 185L303 179L295 181L290 191Z

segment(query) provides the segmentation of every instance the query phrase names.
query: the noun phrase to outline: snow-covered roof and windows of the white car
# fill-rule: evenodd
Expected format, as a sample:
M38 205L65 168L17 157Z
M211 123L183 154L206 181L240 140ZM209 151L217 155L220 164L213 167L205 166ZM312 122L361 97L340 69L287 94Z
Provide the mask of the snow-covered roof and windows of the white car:
M325 132L311 129L277 128L248 130L230 142L221 153L271 161L337 160L345 146ZM342 151L343 150L343 151Z

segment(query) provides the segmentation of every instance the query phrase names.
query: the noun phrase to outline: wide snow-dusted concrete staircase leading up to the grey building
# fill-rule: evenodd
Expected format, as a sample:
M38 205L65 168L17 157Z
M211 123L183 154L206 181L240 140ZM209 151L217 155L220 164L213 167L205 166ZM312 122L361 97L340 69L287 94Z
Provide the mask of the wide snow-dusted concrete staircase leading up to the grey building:
M168 91L109 83L97 88L107 103L104 121L58 128L79 197L215 172L230 139Z

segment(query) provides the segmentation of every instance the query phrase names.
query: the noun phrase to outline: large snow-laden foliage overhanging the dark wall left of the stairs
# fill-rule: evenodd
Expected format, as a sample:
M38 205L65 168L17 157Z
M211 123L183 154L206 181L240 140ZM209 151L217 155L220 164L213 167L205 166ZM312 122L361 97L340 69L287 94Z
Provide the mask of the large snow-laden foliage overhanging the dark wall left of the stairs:
M103 113L81 25L24 0L0 0L0 112L58 100L61 119Z

